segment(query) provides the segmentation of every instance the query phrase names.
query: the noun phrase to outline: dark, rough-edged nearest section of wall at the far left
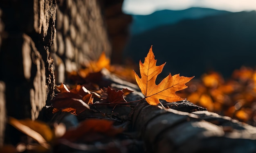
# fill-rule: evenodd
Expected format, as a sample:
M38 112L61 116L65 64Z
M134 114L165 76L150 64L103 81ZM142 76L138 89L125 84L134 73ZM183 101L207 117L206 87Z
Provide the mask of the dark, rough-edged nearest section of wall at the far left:
M36 119L54 96L55 0L0 1L0 145L13 142L6 116ZM6 127L5 127L6 125Z

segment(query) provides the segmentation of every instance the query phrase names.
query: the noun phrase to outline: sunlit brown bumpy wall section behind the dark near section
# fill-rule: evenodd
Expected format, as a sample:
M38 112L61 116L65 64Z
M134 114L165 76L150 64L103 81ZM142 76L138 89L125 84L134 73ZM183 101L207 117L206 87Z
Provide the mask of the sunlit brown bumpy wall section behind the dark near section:
M51 46L56 83L65 81L65 71L97 60L101 52L110 56L110 42L97 0L58 0L56 36Z

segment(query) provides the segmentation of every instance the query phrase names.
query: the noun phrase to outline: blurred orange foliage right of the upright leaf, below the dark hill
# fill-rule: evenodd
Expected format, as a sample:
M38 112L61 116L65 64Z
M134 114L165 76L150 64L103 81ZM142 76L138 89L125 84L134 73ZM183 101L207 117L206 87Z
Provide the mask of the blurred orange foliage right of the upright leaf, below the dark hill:
M243 66L227 80L211 72L187 85L179 94L191 103L256 126L256 70Z

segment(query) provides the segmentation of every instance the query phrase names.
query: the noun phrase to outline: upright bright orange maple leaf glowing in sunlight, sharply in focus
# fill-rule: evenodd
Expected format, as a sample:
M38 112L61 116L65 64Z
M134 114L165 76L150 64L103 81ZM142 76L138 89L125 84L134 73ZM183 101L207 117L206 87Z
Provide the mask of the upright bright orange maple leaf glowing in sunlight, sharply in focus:
M155 84L157 75L160 74L164 68L164 64L156 66L157 60L152 51L152 46L149 49L144 63L139 61L139 71L141 78L135 73L135 79L139 88L144 94L146 101L150 105L157 105L160 103L159 99L167 102L175 102L184 100L175 94L176 91L187 88L185 83L189 82L193 77L180 77L180 74L171 76L171 73L164 78L158 85Z

